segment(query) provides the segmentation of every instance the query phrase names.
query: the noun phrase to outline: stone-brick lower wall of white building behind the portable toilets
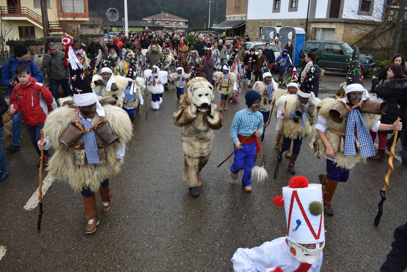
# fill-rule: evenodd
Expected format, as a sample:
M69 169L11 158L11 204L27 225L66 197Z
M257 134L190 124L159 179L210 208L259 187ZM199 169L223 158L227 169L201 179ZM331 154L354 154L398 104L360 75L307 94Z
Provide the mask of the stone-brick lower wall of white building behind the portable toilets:
M261 40L260 30L265 26L292 26L305 29L305 22L305 19L247 20L246 34L256 42Z

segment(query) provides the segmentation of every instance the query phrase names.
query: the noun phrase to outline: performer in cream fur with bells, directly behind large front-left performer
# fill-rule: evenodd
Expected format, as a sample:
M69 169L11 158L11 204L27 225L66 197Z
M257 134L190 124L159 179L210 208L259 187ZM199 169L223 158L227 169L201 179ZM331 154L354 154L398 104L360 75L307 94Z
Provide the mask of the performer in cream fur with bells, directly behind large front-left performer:
M127 82L125 77L115 76L112 69L103 67L101 75L93 76L91 87L102 98L114 97L116 99L116 106L121 107L125 96L124 92L127 89Z

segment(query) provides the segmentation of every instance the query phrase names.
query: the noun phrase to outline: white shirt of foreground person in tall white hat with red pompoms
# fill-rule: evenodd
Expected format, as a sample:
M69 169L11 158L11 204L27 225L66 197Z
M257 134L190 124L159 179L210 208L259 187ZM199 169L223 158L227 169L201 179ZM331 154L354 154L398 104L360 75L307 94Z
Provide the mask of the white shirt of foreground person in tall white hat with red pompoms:
M266 272L269 271L268 268L274 267L280 267L284 272L295 271L301 263L291 254L285 238L280 237L255 248L239 248L231 259L234 271ZM318 272L321 269L322 255L323 253L308 272Z

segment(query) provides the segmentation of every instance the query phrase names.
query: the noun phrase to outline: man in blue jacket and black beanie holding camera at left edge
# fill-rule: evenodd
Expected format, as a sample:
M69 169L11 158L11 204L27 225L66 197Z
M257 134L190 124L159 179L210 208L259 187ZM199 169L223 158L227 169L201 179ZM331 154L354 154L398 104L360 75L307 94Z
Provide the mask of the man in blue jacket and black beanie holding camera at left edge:
M1 82L4 86L9 88L9 96L11 95L14 86L18 84L17 76L14 77L13 75L15 75L15 68L19 65L27 66L31 77L35 78L39 83L44 81L44 76L37 65L35 65L34 61L31 59L28 59L28 49L23 44L17 44L14 47L14 54L11 55L9 61L4 62L1 69ZM13 143L6 148L7 151L14 152L20 150L21 120L21 111L18 114L13 115Z

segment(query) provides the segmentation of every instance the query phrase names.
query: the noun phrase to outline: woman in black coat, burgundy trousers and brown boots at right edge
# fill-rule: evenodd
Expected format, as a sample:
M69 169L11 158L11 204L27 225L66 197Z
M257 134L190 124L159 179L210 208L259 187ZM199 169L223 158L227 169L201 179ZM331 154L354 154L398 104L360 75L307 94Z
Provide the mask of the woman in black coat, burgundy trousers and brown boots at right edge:
M400 113L398 103L403 96L405 96L405 89L407 88L407 77L403 73L403 68L398 64L392 64L387 71L387 79L383 82L383 86L379 84L379 78L373 77L372 85L375 86L374 92L377 97L387 101L387 109L385 114L381 117L381 123L393 124ZM371 160L384 160L384 153L386 149L387 133L393 131L377 132L379 137L379 149L376 156L370 157ZM372 140L376 139L376 133L370 132Z

